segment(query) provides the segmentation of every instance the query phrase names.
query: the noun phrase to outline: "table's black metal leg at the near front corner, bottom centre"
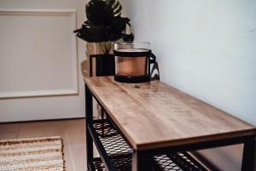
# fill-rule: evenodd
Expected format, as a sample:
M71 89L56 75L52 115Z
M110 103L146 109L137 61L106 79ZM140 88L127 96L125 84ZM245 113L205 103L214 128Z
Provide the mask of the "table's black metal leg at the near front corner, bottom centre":
M150 171L151 156L145 151L133 151L132 153L132 171Z

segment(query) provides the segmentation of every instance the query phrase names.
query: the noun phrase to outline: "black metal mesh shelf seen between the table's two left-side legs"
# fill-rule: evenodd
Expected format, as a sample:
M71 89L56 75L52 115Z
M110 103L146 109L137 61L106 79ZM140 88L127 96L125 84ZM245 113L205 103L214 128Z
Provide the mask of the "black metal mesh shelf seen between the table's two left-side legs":
M102 154L102 160L95 158L92 170L103 171L104 164L108 165L109 170L114 171L131 171L131 147L125 142L118 130L113 127L107 119L94 120L90 123L91 134L96 140L96 146ZM102 168L103 167L103 168Z

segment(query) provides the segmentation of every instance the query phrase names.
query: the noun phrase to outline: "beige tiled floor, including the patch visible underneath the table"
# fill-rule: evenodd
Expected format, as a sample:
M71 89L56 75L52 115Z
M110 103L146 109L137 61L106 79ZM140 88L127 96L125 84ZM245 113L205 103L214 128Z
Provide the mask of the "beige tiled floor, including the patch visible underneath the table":
M64 142L64 157L67 171L85 171L84 119L0 124L0 140L56 135L60 135ZM241 151L242 145L232 145L230 147L204 150L200 151L200 153L208 159L210 158L212 164L222 168L221 170L236 171L241 168Z

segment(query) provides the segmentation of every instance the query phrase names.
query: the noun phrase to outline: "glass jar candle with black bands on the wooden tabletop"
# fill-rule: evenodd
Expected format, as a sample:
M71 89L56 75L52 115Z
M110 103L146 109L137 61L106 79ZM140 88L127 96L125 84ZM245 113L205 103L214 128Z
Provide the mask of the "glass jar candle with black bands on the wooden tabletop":
M143 83L150 81L150 44L114 43L114 80L123 83Z

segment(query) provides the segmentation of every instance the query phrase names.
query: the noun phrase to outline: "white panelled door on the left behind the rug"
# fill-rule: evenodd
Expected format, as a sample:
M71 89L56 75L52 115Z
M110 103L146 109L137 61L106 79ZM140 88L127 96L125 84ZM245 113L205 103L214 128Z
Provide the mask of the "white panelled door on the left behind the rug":
M0 0L0 123L84 117L84 0Z

